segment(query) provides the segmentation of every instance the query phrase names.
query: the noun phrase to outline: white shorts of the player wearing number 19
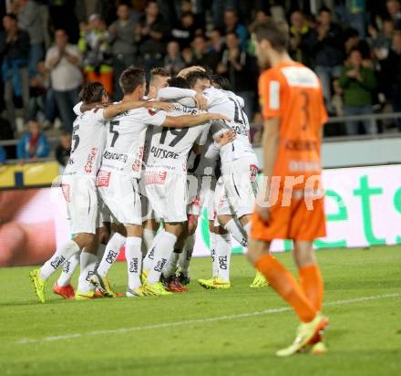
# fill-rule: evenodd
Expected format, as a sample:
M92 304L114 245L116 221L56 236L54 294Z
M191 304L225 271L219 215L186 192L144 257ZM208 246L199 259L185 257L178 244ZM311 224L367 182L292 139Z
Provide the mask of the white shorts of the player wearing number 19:
M157 218L167 223L187 220L187 176L165 169L149 169L146 193Z

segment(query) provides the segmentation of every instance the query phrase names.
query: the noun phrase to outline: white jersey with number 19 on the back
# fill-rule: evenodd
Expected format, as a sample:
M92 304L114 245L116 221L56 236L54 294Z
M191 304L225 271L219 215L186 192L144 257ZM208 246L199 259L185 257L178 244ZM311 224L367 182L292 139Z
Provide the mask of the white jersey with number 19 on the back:
M173 103L169 116L196 115L195 108ZM190 128L154 128L147 166L187 173L187 160L194 143L203 145L207 140L210 122Z

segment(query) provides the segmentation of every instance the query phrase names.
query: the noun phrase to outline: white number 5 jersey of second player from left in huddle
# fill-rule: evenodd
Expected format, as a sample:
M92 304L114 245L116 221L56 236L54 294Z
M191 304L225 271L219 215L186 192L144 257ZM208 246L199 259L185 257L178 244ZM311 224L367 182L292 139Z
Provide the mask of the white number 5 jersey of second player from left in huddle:
M120 172L139 179L147 129L151 125L160 127L166 116L165 111L153 112L141 107L123 112L108 121L102 171Z

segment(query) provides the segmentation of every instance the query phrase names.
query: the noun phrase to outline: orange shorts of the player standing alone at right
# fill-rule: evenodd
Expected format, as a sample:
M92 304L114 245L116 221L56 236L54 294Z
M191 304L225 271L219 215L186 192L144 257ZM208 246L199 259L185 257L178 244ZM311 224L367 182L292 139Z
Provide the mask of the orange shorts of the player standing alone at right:
M283 191L278 195L277 204L270 208L271 216L267 223L259 214L252 214L250 236L255 240L273 239L314 240L324 237L325 215L324 198L313 201L313 209L308 210L303 198L292 198L287 206L282 205Z

